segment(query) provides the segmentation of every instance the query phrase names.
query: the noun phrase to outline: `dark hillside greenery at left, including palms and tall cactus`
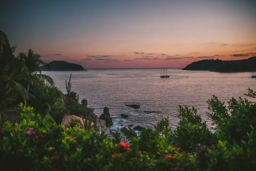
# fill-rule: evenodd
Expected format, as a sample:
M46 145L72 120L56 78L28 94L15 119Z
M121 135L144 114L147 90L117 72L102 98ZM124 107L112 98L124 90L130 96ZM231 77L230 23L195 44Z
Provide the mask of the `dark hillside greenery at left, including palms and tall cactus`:
M29 49L27 53L14 55L15 47L10 46L2 31L0 34L0 114L17 113L17 104L23 102L41 115L50 114L57 123L65 114L93 115L85 99L83 105L79 104L78 95L71 91L71 75L67 95L63 95L54 86L53 79L41 73L41 66L47 67L47 64L39 54Z

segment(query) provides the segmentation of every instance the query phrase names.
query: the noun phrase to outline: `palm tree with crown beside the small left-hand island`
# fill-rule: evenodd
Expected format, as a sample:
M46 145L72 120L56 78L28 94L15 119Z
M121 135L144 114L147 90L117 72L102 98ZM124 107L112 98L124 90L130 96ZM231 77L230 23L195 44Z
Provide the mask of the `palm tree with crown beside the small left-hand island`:
M50 86L54 86L53 79L45 74L41 74L41 66L46 63L42 61L39 54L35 54L32 49L29 49L28 53L19 53L17 55L18 60L25 63L29 70L29 80L27 83L27 91L29 91L29 87L33 85L33 82L37 79L42 79Z

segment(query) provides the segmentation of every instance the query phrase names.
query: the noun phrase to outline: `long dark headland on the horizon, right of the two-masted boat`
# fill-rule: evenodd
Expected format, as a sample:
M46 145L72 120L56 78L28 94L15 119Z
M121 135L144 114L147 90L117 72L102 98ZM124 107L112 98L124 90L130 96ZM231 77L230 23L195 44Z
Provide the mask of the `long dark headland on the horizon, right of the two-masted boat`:
M200 70L216 72L256 71L256 56L242 60L205 59L190 63L182 70Z

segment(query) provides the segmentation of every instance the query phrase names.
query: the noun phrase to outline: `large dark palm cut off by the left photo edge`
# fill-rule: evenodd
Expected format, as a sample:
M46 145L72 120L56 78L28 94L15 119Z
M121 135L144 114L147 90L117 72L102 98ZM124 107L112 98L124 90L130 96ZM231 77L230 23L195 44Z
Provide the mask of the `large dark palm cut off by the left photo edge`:
M18 61L4 32L0 31L0 112L22 98L26 103L28 92L21 82L28 76L27 67Z

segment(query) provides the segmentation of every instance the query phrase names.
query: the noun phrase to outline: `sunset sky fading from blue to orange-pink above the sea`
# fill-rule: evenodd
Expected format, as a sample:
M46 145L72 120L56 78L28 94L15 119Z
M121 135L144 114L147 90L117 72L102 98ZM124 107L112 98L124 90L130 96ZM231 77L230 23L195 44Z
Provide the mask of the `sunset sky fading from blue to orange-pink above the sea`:
M256 1L1 1L16 53L85 68L181 68L256 56Z

